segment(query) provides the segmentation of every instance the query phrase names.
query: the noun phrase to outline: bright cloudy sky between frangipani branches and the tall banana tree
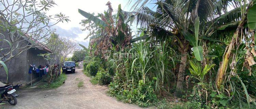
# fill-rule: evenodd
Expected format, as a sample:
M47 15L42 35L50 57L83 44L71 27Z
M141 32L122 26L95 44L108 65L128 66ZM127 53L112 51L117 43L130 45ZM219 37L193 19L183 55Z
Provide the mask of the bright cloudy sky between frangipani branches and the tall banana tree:
M53 28L56 28L57 34L61 37L67 37L70 40L75 40L78 43L88 47L89 38L84 40L89 31L81 31L83 28L79 22L82 19L86 19L81 14L78 13L78 9L81 9L89 13L103 13L104 10L108 10L106 3L111 2L114 11L117 10L118 5L121 4L122 9L125 11L130 11L130 7L126 6L128 0L54 0L57 4L49 11L47 14L54 15L57 13L63 13L69 16L70 22L60 22Z

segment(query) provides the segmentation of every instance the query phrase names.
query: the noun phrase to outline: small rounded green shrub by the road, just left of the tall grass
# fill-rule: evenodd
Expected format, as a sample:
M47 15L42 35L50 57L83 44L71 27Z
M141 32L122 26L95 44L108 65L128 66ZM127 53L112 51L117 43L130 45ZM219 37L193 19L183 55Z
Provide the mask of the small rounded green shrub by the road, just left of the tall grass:
M96 74L96 78L97 78L98 83L100 85L107 85L111 82L111 76L103 68L98 69L98 73Z

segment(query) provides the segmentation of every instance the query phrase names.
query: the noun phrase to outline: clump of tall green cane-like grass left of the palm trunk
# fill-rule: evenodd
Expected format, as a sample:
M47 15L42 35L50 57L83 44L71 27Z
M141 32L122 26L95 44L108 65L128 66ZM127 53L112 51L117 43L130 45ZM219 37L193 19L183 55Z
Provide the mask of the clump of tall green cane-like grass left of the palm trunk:
M161 96L163 91L169 92L171 82L175 82L176 58L168 42L162 45L138 42L133 43L132 49L115 52L109 63L113 63L116 73L124 76L124 89L130 84L138 84L140 80L143 83L154 81L154 91Z

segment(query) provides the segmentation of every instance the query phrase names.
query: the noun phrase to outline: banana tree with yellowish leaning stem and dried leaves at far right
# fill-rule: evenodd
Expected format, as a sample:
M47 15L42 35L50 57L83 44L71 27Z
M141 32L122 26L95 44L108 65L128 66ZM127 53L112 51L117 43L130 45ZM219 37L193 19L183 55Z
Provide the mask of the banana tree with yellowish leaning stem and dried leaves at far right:
M230 74L235 76L236 63L238 62L239 48L241 44L245 43L244 48L247 49L247 55L244 56L246 62L244 66L251 71L251 67L255 64L255 61L252 59L255 53L255 0L237 0L237 1L224 1L222 0L223 5L221 8L218 8L219 11L225 12L224 14L219 13L217 17L208 22L208 28L206 29L204 35L208 35L212 38L220 40L226 43L226 47L223 60L219 63L219 69L216 75L215 83L217 88L223 84L223 80L226 78L226 71L228 66L230 66ZM228 5L229 4L229 5ZM237 4L237 5L232 5ZM232 10L227 11L228 8ZM248 37L248 38L245 38ZM256 53L255 53L256 54ZM256 55L255 55L256 56ZM230 63L231 62L231 63ZM230 64L230 65L229 65ZM229 76L232 77L232 76Z

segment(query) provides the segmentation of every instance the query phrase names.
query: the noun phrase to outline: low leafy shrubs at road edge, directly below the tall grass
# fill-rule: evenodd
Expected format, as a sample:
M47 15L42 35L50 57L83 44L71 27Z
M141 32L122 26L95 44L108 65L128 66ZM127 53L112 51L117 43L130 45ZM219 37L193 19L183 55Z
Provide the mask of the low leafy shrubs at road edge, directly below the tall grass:
M148 107L158 101L152 87L154 81L144 83L140 80L138 84L129 84L128 88L124 89L125 83L122 82L122 78L122 75L117 73L114 81L109 84L108 93L110 96L123 98L126 103L137 104L140 107Z

